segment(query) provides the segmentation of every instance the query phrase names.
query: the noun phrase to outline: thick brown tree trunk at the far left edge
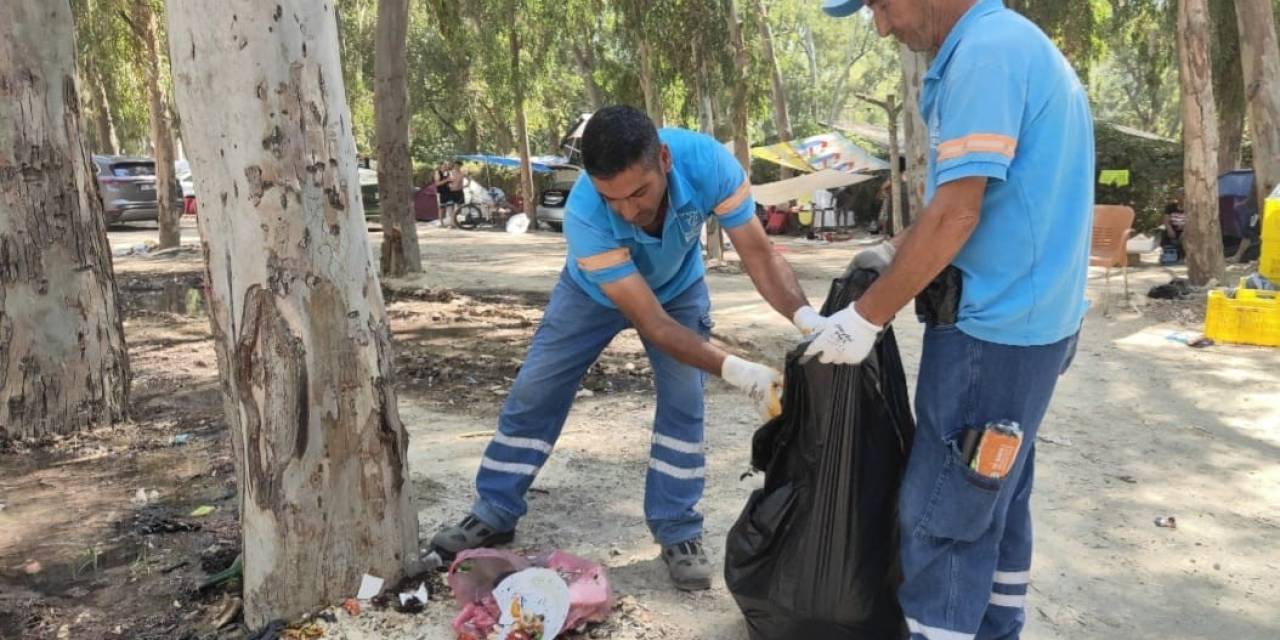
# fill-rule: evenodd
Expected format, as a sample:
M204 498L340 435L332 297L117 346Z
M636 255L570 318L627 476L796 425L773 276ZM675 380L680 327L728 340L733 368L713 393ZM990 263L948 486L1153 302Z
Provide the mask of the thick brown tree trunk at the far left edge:
M67 0L0 3L0 439L128 413L129 360Z

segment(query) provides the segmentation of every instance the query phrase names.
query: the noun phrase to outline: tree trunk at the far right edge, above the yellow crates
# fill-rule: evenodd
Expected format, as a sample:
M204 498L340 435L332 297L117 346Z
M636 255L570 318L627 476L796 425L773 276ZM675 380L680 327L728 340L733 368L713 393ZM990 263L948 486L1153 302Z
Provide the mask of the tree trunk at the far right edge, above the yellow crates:
M1236 0L1258 202L1280 184L1280 47L1270 0Z

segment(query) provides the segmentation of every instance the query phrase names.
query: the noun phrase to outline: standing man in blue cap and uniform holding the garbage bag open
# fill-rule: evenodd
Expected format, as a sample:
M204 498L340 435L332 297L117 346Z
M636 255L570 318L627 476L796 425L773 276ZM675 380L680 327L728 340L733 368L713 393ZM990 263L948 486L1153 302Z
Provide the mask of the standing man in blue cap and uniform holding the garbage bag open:
M920 93L928 129L924 212L863 251L881 273L808 348L856 365L881 328L948 265L963 291L927 325L918 428L899 495L913 639L1016 639L1032 568L1029 499L1039 429L1084 317L1093 211L1093 120L1075 72L1001 0L823 0L863 6L881 36L936 52ZM969 428L1014 421L1012 463L961 460ZM980 465L979 465L980 468Z

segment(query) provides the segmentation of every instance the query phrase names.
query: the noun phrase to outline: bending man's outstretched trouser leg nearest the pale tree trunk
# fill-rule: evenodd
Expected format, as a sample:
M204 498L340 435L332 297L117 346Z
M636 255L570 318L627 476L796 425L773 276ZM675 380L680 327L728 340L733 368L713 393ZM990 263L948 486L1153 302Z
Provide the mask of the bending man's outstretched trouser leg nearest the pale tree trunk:
M525 492L559 438L582 375L623 328L622 314L561 274L480 461L471 509L480 520L498 531L516 527L529 508Z

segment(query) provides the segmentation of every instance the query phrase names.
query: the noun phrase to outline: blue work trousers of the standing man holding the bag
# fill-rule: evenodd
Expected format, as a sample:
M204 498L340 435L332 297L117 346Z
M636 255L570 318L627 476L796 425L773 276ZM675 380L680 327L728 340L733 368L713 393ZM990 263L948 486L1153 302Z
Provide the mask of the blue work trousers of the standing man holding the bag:
M1011 347L954 325L925 329L915 444L899 499L899 600L913 640L1015 640L1021 632L1036 434L1076 339ZM998 480L969 470L957 444L965 428L997 420L1023 429L1018 460Z

